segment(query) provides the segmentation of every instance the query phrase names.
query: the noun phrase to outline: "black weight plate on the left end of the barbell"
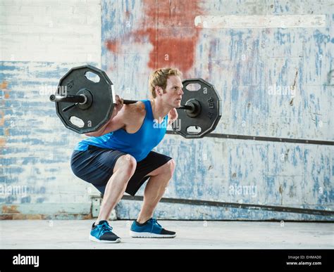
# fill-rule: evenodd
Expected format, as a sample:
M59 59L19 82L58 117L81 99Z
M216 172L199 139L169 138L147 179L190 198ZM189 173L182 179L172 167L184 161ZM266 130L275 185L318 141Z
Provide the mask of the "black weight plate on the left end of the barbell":
M99 82L87 79L85 74L92 72L99 76ZM77 105L63 112L63 108L73 103L56 102L56 112L65 127L80 134L99 130L110 119L113 112L112 82L106 73L91 65L73 67L64 75L58 84L58 94L76 95L82 90L92 94L92 103L89 108ZM84 92L85 92L84 91ZM71 117L82 120L83 127L70 122Z

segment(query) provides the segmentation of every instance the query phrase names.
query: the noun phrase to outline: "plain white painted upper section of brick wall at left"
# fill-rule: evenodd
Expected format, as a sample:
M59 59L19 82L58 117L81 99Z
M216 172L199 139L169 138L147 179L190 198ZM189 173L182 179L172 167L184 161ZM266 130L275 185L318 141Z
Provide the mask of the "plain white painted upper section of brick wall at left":
M0 60L101 63L101 0L0 0Z

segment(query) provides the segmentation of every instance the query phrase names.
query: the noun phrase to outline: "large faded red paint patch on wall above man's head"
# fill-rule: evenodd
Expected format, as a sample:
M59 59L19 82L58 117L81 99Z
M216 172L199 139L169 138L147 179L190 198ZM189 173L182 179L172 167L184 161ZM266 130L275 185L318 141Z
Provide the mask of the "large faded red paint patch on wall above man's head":
M187 73L194 65L195 50L201 30L194 26L194 18L201 15L198 0L144 0L142 21L136 22L137 30L125 34L122 43L132 41L145 46L148 39L153 46L147 66L178 67ZM127 18L130 17L127 12ZM137 11L132 11L137 12ZM116 41L107 41L106 48L116 53Z

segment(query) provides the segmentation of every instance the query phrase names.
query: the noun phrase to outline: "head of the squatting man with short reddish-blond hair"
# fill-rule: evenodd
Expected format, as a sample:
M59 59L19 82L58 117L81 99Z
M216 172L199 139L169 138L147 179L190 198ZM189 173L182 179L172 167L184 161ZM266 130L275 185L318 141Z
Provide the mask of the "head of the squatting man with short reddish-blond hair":
M172 108L180 106L183 95L182 73L178 69L161 68L151 73L149 90L152 98L161 98Z

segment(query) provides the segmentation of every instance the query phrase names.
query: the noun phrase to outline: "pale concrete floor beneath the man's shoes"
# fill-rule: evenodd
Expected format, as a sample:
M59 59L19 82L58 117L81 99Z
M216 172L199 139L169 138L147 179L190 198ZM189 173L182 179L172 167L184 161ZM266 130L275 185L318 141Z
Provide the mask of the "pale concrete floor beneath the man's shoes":
M334 224L248 221L159 221L177 232L173 239L130 238L132 221L110 221L122 238L119 244L88 240L92 220L0 221L1 249L37 248L221 248L221 249L333 249Z

